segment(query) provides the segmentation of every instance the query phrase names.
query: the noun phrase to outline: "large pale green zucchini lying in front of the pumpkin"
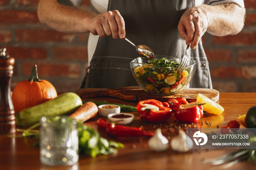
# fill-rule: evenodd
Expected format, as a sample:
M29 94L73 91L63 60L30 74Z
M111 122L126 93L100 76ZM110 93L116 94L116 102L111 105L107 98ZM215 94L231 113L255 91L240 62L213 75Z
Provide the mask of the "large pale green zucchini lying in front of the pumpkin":
M20 123L23 126L33 125L42 116L56 116L72 113L83 104L81 98L76 93L63 93L59 96L20 111Z

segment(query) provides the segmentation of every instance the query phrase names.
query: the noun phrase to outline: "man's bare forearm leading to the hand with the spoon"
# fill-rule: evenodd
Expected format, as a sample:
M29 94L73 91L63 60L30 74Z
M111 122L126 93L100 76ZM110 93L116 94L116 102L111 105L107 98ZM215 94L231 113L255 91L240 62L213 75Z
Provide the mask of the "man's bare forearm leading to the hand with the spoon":
M70 3L67 0L40 0L37 11L40 22L60 32L89 32L86 25L97 14L75 8Z

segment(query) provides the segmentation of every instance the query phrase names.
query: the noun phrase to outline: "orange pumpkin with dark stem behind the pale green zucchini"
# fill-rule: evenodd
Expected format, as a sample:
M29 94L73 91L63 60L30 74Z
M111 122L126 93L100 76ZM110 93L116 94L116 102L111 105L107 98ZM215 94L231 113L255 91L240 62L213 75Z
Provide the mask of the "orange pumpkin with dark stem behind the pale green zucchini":
M12 103L17 113L57 97L54 86L46 80L40 80L37 65L34 65L28 80L19 82L12 92Z

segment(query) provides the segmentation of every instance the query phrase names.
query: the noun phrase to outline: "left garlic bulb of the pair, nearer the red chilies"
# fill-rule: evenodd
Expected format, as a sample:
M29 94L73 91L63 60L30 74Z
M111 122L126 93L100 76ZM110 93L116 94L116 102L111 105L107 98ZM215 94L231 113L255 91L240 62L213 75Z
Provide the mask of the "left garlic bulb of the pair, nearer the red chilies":
M148 147L156 152L161 152L167 149L169 140L162 135L161 128L155 131L155 135L148 140Z

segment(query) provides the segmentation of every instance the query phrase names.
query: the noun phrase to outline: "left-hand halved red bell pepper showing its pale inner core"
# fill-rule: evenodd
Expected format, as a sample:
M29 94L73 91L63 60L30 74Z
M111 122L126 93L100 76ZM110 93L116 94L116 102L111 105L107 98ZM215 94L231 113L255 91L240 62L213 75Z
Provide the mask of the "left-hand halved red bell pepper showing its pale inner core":
M140 119L152 123L160 123L168 120L172 115L172 109L164 107L161 101L148 99L139 101L137 111Z

